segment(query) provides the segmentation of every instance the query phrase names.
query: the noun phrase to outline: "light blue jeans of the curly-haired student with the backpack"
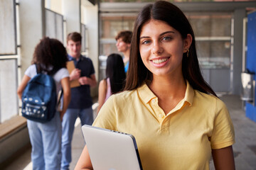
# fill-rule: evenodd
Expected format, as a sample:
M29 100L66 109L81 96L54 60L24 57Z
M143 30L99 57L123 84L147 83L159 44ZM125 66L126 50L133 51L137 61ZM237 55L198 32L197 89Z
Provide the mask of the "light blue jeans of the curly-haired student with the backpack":
M61 162L60 113L52 120L38 123L28 120L28 134L31 140L33 170L58 170Z

